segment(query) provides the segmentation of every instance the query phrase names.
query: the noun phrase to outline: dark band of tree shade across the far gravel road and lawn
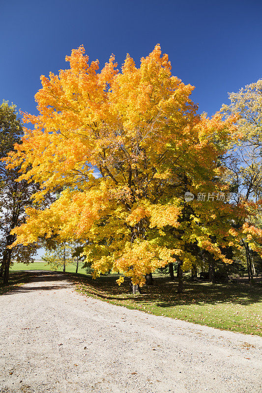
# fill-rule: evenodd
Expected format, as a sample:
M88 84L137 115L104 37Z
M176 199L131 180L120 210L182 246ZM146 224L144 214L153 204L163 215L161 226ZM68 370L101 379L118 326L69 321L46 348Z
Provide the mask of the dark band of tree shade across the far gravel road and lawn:
M178 305L201 305L232 303L240 305L250 305L262 300L262 287L259 284L249 283L209 283L209 282L185 282L185 289L182 294L176 293L177 282L171 281L169 277L155 277L154 285L145 285L141 295L131 295L129 293L129 281L125 278L122 285L116 283L119 275L105 275L96 280L90 276L62 273L56 271L23 271L11 273L11 286L4 287L4 293L29 292L40 290L58 290L70 287L73 284L83 286L83 292L87 295L96 296L104 300L112 300L146 305L154 303L159 308L168 308ZM48 282L55 282L52 285ZM19 282L37 283L36 285L13 286ZM42 285L39 283L42 282Z

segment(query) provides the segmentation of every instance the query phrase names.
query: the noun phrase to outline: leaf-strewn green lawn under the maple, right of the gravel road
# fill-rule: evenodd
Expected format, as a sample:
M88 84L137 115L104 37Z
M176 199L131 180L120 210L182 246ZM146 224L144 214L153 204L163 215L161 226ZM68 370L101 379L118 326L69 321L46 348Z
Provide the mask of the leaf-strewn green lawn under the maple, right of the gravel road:
M262 287L258 283L186 282L184 293L178 295L176 282L167 277L155 277L154 285L142 288L143 294L131 295L128 281L119 287L114 275L97 280L70 276L83 295L155 315L262 336Z

